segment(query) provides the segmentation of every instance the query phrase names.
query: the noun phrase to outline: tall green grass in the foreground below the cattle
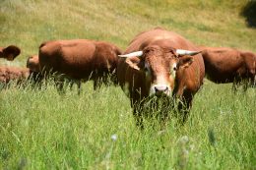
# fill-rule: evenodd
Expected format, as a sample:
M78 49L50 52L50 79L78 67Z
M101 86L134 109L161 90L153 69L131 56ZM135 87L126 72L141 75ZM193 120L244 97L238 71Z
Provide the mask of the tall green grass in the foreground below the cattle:
M10 87L0 93L1 167L254 169L256 93L230 89L208 82L183 127L171 120L141 132L119 87L88 83L81 95Z

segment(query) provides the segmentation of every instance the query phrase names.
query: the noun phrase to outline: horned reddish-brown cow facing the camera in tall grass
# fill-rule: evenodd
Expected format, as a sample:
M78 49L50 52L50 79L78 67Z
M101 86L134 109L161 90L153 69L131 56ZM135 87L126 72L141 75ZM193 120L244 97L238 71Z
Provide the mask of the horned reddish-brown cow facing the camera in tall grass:
M161 95L170 99L176 96L182 101L179 110L185 122L193 96L205 76L204 61L197 50L179 34L155 28L138 34L124 55L119 55L118 81L129 93L137 125L142 126L143 115L139 109L144 99Z

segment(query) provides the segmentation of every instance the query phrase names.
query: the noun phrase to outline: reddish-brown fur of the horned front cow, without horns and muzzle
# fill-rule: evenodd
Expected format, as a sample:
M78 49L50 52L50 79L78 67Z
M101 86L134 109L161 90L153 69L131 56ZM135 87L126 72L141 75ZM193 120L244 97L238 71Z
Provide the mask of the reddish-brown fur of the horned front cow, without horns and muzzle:
M203 58L201 54L193 56L194 62L188 67L179 67L176 77L171 78L169 70L172 62L178 62L182 65L182 62L190 60L190 56L177 57L175 49L196 51L197 47L175 32L155 28L138 34L124 52L124 54L127 54L143 50L144 55L142 57L119 59L117 67L118 81L124 90L126 90L127 85L129 87L129 96L131 105L134 107L134 114L138 114L136 113L138 111L136 105L141 103L143 98L149 96L150 85L154 84L160 76L170 85L172 95L180 98L187 109L190 108L194 94L203 84L205 76ZM138 68L136 68L142 68L145 61L151 68L151 80L146 79L146 74L141 71L142 69L138 71ZM136 67L132 67L133 65L136 65ZM185 113L184 120L186 116L187 113ZM140 122L140 120L137 121Z

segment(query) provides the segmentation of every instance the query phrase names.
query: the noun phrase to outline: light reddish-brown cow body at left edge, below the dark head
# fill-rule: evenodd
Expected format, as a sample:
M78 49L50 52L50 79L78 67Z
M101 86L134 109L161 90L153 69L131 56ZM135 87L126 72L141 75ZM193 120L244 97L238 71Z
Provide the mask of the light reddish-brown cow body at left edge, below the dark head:
M11 81L22 83L30 77L30 69L19 67L0 67L0 83L7 85Z

